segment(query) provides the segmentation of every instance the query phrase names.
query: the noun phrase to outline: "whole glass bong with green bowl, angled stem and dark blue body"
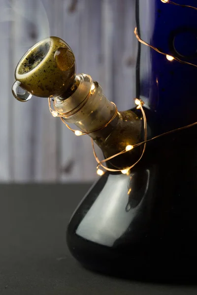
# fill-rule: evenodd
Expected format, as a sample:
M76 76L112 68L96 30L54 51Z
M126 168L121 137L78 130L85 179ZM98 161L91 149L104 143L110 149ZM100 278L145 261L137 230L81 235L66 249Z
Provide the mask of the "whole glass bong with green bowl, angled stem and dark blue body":
M139 15L144 20L143 16L147 14L146 5L140 6L140 2L144 1L137 1L137 30L143 38L145 21L140 23ZM165 9L161 1L156 2L150 14L155 15L159 8ZM157 22L159 18L155 17L155 24ZM150 32L153 43L158 41L156 27ZM152 59L148 87L142 64L147 54ZM177 48L173 54L178 55ZM148 98L143 105L148 139L196 120L197 102L193 95L196 93L193 83L196 68L187 67L190 79L186 75L185 83L179 84L179 88L175 78L175 88L168 83L169 72L180 78L184 66L167 63L163 56L139 45L137 97ZM66 124L74 123L80 132L88 133L105 158L144 139L141 111L136 108L117 111L92 77L76 74L74 54L58 37L35 44L17 65L15 79L13 94L18 100L28 101L32 95L51 97L54 114L64 114ZM20 88L25 93L20 94ZM190 93L190 103L185 102L186 93ZM151 141L141 160L126 174L107 171L99 177L72 214L66 232L68 248L83 266L141 279L191 278L195 275L195 128ZM106 165L112 170L124 171L139 159L142 149L143 146L133 148L111 158Z

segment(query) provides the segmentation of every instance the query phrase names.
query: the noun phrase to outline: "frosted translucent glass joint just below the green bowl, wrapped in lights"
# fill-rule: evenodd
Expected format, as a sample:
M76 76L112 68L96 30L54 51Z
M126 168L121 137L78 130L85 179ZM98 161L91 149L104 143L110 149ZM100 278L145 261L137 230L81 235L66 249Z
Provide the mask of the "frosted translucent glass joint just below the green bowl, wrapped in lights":
M71 95L68 97L67 93ZM93 139L100 133L107 136L120 116L120 113L115 116L116 107L102 93L100 85L86 74L76 75L70 91L55 97L54 107L58 113L65 114L66 123L75 124L82 132L91 132L89 135ZM107 124L113 117L115 118Z

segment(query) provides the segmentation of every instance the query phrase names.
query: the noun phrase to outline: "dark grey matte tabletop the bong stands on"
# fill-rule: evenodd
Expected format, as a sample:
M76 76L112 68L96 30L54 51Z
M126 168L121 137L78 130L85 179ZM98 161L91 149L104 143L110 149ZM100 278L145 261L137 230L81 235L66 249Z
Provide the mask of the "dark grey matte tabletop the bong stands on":
M65 230L90 184L0 185L0 295L197 295L105 277L70 255Z

